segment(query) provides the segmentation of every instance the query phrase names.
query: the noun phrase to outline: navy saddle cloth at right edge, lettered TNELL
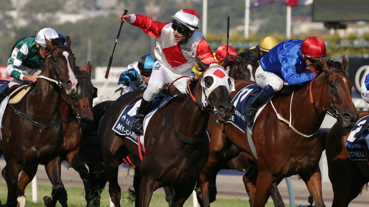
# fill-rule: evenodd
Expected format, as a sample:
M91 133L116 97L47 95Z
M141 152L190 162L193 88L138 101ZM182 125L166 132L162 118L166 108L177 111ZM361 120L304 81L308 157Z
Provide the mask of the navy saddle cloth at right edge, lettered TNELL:
M345 142L351 160L367 160L369 156L369 116L356 122Z

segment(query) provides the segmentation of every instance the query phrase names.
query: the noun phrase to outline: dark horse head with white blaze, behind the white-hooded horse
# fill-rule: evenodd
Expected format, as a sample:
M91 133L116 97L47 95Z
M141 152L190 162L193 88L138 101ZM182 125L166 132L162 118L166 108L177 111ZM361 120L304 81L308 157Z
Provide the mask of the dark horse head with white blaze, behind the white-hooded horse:
M259 66L258 62L246 53L241 53L239 56L230 56L234 61L230 77L236 80L255 81L254 74Z

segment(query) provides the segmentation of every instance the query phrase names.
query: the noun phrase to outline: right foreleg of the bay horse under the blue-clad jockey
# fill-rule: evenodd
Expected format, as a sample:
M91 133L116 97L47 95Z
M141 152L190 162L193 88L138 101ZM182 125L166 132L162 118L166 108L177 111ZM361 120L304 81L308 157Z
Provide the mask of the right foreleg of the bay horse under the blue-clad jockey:
M301 179L306 183L307 190L313 196L315 201L315 207L325 207L322 194L322 176L319 166L314 172L300 173Z

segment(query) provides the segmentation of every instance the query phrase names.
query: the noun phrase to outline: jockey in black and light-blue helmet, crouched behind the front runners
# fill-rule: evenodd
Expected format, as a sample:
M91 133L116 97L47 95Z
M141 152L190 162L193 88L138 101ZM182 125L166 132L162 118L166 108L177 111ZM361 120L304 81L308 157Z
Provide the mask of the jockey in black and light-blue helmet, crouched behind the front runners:
M154 57L146 54L138 61L129 64L127 70L120 74L115 92L122 90L125 94L130 91L146 89L155 61Z

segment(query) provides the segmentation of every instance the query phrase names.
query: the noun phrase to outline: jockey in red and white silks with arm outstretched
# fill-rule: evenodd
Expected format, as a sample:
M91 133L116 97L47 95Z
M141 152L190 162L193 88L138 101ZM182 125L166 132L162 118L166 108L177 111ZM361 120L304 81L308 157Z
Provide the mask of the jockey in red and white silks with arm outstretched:
M196 62L196 55L206 64L215 63L213 53L199 29L199 15L193 9L179 10L172 16L172 22L158 22L151 17L141 14L119 15L119 20L128 22L156 40L155 57L158 59L153 67L147 89L132 123L134 130L142 133L142 121L146 110L154 100L163 85L181 76L194 76L192 67ZM181 78L173 85L183 94L189 78ZM141 129L141 130L140 130Z

